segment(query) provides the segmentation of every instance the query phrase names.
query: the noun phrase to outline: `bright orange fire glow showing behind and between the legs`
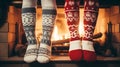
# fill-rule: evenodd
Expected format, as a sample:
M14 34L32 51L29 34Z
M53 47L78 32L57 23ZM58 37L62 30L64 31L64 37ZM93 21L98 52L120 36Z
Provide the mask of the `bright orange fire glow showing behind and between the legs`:
M36 21L36 37L40 41L42 37L42 9L37 9L37 21ZM80 8L80 23L79 23L79 33L80 37L84 36L84 9ZM57 8L57 17L55 21L54 30L52 33L52 41L64 40L70 38L70 33L67 26L67 20L64 14L64 8ZM109 22L109 14L106 9L99 10L99 16L97 19L97 24L94 30L94 34L101 32L103 35L100 38L94 39L100 42L100 45L104 45L107 32L107 22Z

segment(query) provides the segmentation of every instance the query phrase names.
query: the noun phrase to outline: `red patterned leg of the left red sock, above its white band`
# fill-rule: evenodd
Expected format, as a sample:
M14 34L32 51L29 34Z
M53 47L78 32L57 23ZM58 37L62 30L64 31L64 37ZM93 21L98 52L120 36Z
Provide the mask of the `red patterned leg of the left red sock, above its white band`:
M79 40L79 0L66 0L65 13L70 31L71 41Z

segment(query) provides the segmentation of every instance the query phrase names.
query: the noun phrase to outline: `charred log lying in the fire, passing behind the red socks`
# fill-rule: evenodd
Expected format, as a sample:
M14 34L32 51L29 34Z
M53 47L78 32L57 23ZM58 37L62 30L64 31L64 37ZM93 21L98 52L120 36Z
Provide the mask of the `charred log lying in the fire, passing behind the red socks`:
M102 33L97 33L93 35L93 39L100 38L102 36ZM56 44L63 44L63 43L69 43L69 39L64 39L64 40L57 40L57 41L52 41L52 45Z

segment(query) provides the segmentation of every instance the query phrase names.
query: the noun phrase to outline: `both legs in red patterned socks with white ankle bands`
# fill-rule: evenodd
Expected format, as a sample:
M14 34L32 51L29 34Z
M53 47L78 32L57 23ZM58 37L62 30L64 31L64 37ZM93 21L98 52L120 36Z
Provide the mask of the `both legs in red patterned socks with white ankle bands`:
M65 14L70 31L69 56L73 61L95 61L92 37L98 16L98 0L84 0L84 34L80 38L79 25L80 0L65 0Z

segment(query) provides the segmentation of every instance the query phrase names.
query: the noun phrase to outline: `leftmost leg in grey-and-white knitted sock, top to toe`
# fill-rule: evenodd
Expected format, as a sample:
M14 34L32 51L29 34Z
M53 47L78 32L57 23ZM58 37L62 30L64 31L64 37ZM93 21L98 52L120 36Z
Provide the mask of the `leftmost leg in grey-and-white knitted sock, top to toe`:
M24 56L24 61L31 63L37 58L37 45L35 39L35 22L37 0L23 0L22 23L28 41L28 46Z

